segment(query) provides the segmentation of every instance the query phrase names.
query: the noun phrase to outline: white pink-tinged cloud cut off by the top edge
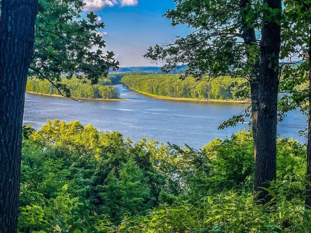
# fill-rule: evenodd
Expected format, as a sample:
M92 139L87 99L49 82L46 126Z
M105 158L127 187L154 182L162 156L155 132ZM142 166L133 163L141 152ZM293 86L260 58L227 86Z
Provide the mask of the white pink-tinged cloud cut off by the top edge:
M103 9L104 7L113 7L115 5L121 5L121 7L125 6L136 6L138 4L138 0L84 0L86 3L83 10L85 11L98 11Z

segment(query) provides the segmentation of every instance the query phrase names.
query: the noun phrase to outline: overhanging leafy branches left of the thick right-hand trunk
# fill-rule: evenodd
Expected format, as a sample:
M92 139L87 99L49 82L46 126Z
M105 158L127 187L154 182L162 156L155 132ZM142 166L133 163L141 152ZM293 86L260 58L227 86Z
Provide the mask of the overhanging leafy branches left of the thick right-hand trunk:
M174 1L175 8L164 16L172 26L187 25L193 32L176 36L172 43L150 47L145 57L155 63L165 61L164 72L187 64L180 76L193 77L193 81L224 76L249 80L259 58L259 38L255 35L252 39L246 32L261 30L263 2L245 2L244 6L228 0Z

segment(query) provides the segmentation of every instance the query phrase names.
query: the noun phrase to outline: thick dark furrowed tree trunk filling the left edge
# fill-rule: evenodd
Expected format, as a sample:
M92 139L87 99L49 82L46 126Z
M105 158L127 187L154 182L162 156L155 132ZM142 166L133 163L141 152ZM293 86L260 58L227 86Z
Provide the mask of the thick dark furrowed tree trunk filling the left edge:
M37 0L2 0L0 18L0 232L17 231L21 128Z

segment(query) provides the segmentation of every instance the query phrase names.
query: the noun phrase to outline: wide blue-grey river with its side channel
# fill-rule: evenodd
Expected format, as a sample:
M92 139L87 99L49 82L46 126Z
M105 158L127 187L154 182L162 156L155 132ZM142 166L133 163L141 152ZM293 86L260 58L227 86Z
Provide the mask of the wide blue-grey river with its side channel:
M234 128L217 130L217 127L233 115L241 113L246 104L232 102L199 102L157 99L116 85L121 98L133 101L100 101L77 103L71 99L26 93L24 125L40 129L47 120L81 121L98 130L119 131L133 142L148 137L159 142L188 144L201 148L216 137L224 139L232 133L248 128L238 124ZM278 126L280 136L305 138L298 131L306 127L306 117L298 110Z

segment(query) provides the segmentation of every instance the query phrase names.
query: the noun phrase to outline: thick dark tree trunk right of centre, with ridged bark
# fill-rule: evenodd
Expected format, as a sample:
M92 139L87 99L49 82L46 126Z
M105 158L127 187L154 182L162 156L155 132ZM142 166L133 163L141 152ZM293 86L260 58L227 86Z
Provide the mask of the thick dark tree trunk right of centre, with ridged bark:
M282 9L281 0L265 0L272 9ZM280 12L281 13L281 12ZM279 86L279 57L281 25L273 19L263 21L260 42L258 119L256 129L254 191L261 191L257 200L262 204L272 196L260 187L269 188L267 182L276 179L276 126L277 94Z

